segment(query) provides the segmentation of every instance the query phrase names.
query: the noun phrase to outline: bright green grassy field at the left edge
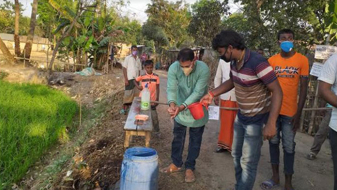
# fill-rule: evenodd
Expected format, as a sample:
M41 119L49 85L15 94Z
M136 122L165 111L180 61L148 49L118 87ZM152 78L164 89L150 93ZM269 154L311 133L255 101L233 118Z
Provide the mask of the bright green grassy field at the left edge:
M62 92L0 80L0 190L20 180L57 141L78 110Z

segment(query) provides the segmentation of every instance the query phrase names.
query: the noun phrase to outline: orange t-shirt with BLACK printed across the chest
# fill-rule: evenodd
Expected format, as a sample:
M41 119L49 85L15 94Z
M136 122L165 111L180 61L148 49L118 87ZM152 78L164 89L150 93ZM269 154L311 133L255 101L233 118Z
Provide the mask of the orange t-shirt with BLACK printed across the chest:
M293 117L297 112L297 95L300 77L309 76L308 59L300 53L291 58L282 58L276 54L268 62L273 67L280 83L283 100L280 114Z

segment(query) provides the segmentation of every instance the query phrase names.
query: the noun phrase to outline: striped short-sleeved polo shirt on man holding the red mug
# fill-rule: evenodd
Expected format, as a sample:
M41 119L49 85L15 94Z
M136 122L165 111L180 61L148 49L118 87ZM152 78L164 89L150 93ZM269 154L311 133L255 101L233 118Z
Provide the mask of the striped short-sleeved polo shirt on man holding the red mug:
M276 76L263 56L246 48L243 63L231 64L230 77L235 86L239 118L250 120L269 113L271 93L266 85L276 80Z

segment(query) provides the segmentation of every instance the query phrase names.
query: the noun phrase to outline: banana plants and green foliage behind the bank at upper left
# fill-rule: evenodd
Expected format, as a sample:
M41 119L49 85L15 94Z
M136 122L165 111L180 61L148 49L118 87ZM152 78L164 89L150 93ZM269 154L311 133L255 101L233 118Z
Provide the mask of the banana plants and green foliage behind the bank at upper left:
M72 55L74 62L79 64L87 64L89 59L90 65L100 69L106 63L109 45L116 42L136 43L141 25L137 21L120 16L115 8L107 8L102 4L103 1L83 7L61 6L55 0L49 2L59 14L60 24L54 33L64 33L71 24L74 25L74 29L62 39L60 58L70 59ZM121 5L124 2L116 3Z

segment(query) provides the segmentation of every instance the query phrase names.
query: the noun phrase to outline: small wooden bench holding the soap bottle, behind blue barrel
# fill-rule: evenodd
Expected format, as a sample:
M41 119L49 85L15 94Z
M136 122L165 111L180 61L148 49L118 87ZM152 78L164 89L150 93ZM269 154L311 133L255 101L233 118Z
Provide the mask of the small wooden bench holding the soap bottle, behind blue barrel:
M142 122L136 121L135 115L143 114L149 116L149 118ZM150 146L150 138L152 132L152 117L151 117L151 108L149 110L141 110L140 109L140 97L135 97L132 105L130 107L130 111L128 113L128 118L124 126L125 130L125 141L124 148L129 147L130 139L132 136L145 136L145 147Z

